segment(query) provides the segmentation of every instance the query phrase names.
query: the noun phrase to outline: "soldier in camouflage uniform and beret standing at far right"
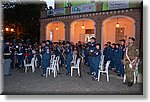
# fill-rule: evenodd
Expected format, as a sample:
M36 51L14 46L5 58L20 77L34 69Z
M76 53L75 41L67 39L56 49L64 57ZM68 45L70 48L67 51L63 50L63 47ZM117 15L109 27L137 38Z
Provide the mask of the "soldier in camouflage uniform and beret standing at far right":
M129 87L133 85L135 65L139 56L139 50L135 47L134 42L135 39L133 37L129 37L128 46L126 47L123 60L125 65L126 84Z

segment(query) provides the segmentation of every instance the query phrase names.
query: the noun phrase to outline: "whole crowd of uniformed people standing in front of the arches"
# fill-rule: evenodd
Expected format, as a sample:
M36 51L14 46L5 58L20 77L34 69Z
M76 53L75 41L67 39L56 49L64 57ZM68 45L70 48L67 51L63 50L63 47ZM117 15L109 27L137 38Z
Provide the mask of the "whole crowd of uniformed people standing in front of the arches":
M124 39L117 44L107 42L103 51L101 51L100 44L96 43L96 38L92 37L90 40L88 43L79 41L76 44L69 41L51 42L47 40L42 41L39 45L21 42L13 44L5 41L3 46L4 75L11 75L10 68L23 68L24 60L31 63L32 58L35 56L38 67L43 70L42 76L45 77L46 69L50 66L51 55L54 54L60 57L60 67L65 67L66 75L70 76L71 61L73 55L76 54L77 58L84 58L83 62L89 68L90 72L88 74L92 75L92 79L98 80L99 64L101 56L104 55L104 65L107 61L111 61L109 70L118 73L119 77L123 77L126 73L125 84L132 86L134 67L139 56L138 49L134 45L135 39L129 37L128 46L126 46Z

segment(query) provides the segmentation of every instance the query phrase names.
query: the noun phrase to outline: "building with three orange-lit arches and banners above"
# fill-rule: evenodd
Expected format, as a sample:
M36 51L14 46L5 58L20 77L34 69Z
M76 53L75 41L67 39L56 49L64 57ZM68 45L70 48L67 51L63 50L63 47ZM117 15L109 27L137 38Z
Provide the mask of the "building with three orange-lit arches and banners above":
M68 2L64 8L57 6L50 15L51 10L43 11L40 41L88 42L95 36L103 49L107 41L118 43L120 39L132 36L136 46L143 50L143 2L134 2L131 6L129 0L119 1L107 1L107 7L104 7L106 2L98 0L82 5Z

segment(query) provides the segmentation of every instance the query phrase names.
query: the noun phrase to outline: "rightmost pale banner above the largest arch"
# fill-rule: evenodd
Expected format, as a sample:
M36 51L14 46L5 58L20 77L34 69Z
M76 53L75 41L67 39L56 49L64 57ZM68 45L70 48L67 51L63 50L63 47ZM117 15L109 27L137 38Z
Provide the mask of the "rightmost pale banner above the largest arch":
M129 0L109 0L109 10L124 9L129 7Z

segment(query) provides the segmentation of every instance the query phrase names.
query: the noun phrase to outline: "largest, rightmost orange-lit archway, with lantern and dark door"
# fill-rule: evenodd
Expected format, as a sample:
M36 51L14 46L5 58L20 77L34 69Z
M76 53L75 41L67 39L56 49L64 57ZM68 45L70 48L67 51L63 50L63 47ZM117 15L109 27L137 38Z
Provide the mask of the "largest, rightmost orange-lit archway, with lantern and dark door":
M135 37L135 21L127 16L113 16L102 23L102 49L106 42L118 43L119 40Z

